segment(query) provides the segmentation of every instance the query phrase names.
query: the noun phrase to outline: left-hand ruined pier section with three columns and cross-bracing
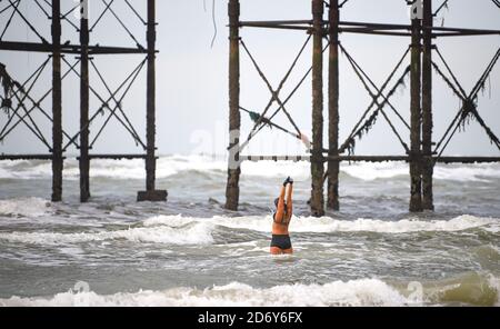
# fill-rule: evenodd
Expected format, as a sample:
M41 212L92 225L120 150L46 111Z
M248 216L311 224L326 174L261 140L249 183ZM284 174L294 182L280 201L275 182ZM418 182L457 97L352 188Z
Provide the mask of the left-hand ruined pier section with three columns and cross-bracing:
M64 162L64 153L67 149L74 146L79 154L79 166L80 166L80 198L82 202L86 202L90 198L90 179L89 170L90 162L93 159L144 159L146 161L146 191L140 191L138 193L139 201L161 201L167 199L167 191L156 189L156 37L157 37L157 22L156 22L156 0L143 0L141 3L144 6L141 10L137 10L131 6L129 1L106 1L102 0L104 4L103 11L92 17L92 20L88 16L88 0L72 1L73 8L68 12L61 11L61 0L50 0L30 1L29 10L37 11L44 14L47 19L51 22L51 37L44 38L41 32L38 31L36 24L29 21L27 13L22 12L19 6L22 1L2 1L0 4L0 14L2 16L2 33L0 37L0 50L1 51L22 51L22 52L42 52L48 53L48 59L44 62L52 62L52 88L48 93L43 96L42 99L36 100L30 96L31 88L28 88L28 82L34 84L39 78L40 68L33 73L33 76L27 80L24 83L18 88L13 88L9 94L2 97L2 107L8 109L10 116L7 123L0 133L0 140L3 140L19 124L26 124L31 132L33 132L40 141L48 148L47 154L0 154L0 160L48 160L52 161L52 201L60 201L62 199L62 170ZM62 3L67 4L67 3ZM126 22L120 19L117 9L118 6L130 10L138 19L141 20L142 24L146 27L146 46L142 46L139 40L132 34L132 31L128 28ZM121 9L123 9L121 8ZM38 11L40 10L40 11ZM74 23L69 19L70 14L74 11L80 11L80 23ZM147 12L147 18L144 19L139 12ZM13 17L20 18L30 30L40 39L40 42L18 42L18 41L6 41L2 40L6 34L7 29L17 28L10 27ZM137 47L107 47L107 46L92 46L90 44L91 32L98 23L102 23L103 20L112 19L116 20L127 32L127 34L133 40ZM74 28L80 34L80 43L71 44L68 42L62 42L61 22L66 22L64 27ZM76 63L70 63L66 58L66 54L73 54L77 57ZM132 71L130 76L121 83L120 88L112 91L109 89L103 77L98 71L97 67L93 64L93 59L99 56L118 56L118 54L130 54L130 56L142 56L146 57L143 61ZM78 70L79 63L79 70ZM121 100L126 97L127 92L130 90L131 84L136 81L137 77L146 66L147 70L147 102L146 102L146 117L147 117L147 131L146 131L146 142L142 140L141 136L133 128L132 123L128 119L126 112L122 109ZM43 66L44 68L44 66ZM101 82L107 86L109 91L109 97L99 94L94 88L92 88L92 81L89 81L89 70L96 69ZM10 72L12 79L12 72ZM68 74L76 74L80 80L80 130L77 133L70 134L63 128L62 118L62 80ZM34 79L33 79L34 78ZM31 84L31 87L32 87ZM21 88L22 87L22 88ZM124 90L124 91L122 91ZM119 97L119 92L122 96ZM93 94L102 103L100 108L94 112L90 113L89 109L89 97ZM46 111L41 107L41 101L44 100L49 94L52 96L52 111ZM17 106L13 106L17 103ZM9 106L7 106L9 104ZM33 111L41 111L47 119L50 120L52 124L52 141L48 141L44 138L41 130L38 128L37 122L32 118ZM91 136L89 127L92 124L94 119L99 113L106 113L107 120L104 124L97 130L96 136ZM120 113L120 116L119 116ZM91 114L91 116L90 116ZM93 143L101 136L104 127L110 122L111 119L118 120L127 130L130 132L138 146L142 148L139 154L109 154L109 153L90 153ZM91 139L93 138L93 139Z

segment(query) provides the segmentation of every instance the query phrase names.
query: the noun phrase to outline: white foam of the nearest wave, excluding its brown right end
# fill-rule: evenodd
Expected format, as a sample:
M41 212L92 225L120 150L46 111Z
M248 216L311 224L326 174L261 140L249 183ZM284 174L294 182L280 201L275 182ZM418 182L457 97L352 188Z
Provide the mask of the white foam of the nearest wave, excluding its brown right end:
M327 285L277 286L257 289L233 282L204 290L174 288L166 291L139 291L100 296L94 292L59 293L52 298L0 299L2 307L64 307L64 306L179 306L179 307L261 307L261 306L404 306L411 305L394 288L377 279Z

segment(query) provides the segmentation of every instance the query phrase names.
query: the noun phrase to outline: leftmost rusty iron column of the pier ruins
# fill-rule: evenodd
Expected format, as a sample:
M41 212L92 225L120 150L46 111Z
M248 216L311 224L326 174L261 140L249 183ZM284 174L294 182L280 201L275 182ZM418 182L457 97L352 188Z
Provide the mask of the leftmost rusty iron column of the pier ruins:
M52 0L52 201L62 200L61 2Z

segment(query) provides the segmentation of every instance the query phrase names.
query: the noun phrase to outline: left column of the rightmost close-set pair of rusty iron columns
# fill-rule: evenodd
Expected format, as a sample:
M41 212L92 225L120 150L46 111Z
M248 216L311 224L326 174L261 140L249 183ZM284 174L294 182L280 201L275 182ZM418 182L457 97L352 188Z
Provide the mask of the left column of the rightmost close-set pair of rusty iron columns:
M422 179L421 179L421 22L419 18L411 21L411 151L410 151L410 179L411 197L410 211L422 211Z

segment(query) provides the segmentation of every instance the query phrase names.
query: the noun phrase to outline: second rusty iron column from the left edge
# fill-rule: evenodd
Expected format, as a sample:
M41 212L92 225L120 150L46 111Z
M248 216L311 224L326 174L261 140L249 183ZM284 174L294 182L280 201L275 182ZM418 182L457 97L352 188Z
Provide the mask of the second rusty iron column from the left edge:
M87 202L90 198L88 0L80 0L80 201Z

